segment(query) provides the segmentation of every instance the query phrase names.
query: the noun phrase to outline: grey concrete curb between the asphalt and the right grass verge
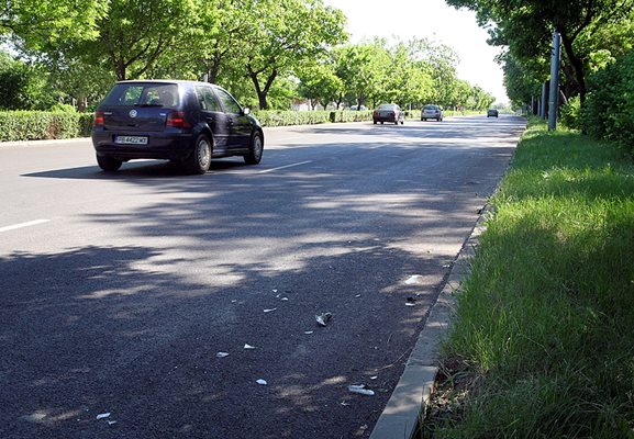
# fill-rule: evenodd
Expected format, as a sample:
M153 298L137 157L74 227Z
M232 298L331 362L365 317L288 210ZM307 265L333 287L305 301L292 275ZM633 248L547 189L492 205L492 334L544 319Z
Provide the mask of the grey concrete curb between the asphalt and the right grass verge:
M456 257L408 359L405 370L375 425L370 439L411 439L419 423L423 420L425 406L434 391L438 373L440 344L447 335L460 284L469 275L470 260L476 255L485 228L483 217L480 215Z

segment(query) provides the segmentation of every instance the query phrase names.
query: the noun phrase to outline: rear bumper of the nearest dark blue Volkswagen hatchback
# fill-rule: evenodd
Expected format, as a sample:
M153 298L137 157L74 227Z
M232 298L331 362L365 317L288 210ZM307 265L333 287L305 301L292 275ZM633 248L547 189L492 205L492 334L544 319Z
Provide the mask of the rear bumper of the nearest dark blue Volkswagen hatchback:
M119 145L114 143L116 135L145 136L147 145ZM193 150L193 135L176 133L113 133L111 131L93 131L92 146L98 156L108 156L118 160L135 158L181 160Z

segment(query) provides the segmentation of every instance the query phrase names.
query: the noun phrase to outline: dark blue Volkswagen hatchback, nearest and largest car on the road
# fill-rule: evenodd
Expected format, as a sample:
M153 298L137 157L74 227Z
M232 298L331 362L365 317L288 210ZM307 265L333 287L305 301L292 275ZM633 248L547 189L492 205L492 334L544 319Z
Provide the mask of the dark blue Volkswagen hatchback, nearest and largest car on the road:
M132 159L165 159L204 173L215 157L257 165L264 151L259 122L226 90L208 82L120 81L97 109L92 145L104 171Z

